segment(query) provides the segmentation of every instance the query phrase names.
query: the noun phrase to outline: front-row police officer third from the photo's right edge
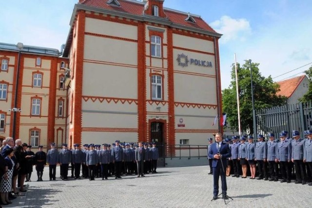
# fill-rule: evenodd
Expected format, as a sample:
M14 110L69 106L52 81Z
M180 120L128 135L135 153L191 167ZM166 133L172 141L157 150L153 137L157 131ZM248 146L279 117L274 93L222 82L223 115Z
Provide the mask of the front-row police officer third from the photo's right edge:
M292 144L286 141L286 133L280 133L280 142L277 144L277 154L275 162L279 162L280 170L282 174L281 183L291 183L291 172L289 169L292 159Z

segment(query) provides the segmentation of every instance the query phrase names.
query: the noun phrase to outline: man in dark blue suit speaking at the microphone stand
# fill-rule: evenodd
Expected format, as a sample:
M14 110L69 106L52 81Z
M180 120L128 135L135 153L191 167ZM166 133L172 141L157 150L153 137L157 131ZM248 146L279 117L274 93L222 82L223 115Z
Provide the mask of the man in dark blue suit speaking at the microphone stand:
M214 198L218 198L219 193L219 175L221 175L222 183L222 198L228 199L226 194L227 185L226 185L226 175L225 170L227 167L227 158L231 157L231 150L229 145L225 142L222 142L222 134L215 134L215 143L211 145L211 148L208 152L208 156L213 158L213 175L214 175Z

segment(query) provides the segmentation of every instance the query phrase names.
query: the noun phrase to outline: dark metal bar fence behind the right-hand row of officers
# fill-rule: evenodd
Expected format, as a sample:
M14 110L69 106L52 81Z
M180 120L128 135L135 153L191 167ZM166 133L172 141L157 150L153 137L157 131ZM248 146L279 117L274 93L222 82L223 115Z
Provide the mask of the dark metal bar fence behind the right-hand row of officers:
M288 132L296 130L304 138L304 131L312 130L312 103L287 104L257 110L256 129L257 133L263 135L268 132L278 135L283 130Z

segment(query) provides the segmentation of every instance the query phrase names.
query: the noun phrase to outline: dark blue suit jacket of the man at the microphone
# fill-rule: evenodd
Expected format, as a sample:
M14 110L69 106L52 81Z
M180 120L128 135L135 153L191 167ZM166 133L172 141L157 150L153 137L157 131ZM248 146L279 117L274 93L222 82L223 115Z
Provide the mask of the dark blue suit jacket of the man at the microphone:
M225 143L225 142L222 142L219 151L218 151L216 143L213 143L211 145L211 148L210 148L210 150L208 152L208 156L213 158L213 163L212 163L212 167L213 168L216 168L218 166L218 163L221 163L220 159L215 159L214 158L214 155L219 153L219 152L220 152L220 155L221 155L221 160L222 160L223 167L224 167L224 169L226 169L226 166L228 164L227 158L231 157L231 150L230 150L229 145L227 143Z

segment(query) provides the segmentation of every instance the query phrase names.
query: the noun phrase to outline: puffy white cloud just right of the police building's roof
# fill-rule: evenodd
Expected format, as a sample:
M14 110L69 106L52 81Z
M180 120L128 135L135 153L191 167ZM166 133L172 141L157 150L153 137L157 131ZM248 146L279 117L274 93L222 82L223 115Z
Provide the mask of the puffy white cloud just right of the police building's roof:
M247 19L232 19L229 16L222 16L210 25L218 33L223 34L220 43L227 43L231 40L245 41L246 37L251 34L251 27Z

